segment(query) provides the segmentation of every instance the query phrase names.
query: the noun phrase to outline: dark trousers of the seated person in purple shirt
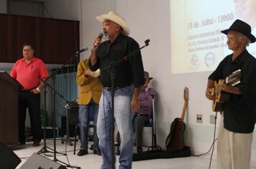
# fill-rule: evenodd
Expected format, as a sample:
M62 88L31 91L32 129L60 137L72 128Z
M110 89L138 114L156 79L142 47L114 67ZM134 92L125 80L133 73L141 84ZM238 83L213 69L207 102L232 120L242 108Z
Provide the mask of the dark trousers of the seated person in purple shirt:
M142 133L144 125L150 122L150 117L147 115L134 115L134 118L132 120L133 122L133 128L134 128L134 135L136 138L136 145L137 148L142 147Z

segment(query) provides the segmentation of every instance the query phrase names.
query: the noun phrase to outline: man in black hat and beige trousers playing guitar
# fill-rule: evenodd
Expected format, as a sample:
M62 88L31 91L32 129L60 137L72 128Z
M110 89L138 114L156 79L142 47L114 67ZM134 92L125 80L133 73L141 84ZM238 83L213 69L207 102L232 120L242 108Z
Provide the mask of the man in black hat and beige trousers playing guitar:
M240 83L232 86L220 84L221 90L229 93L219 123L217 145L217 168L250 168L252 133L256 120L256 59L246 47L255 42L251 26L237 19L224 31L227 46L233 51L225 57L209 76L206 97L214 100L214 81L225 79L241 69Z

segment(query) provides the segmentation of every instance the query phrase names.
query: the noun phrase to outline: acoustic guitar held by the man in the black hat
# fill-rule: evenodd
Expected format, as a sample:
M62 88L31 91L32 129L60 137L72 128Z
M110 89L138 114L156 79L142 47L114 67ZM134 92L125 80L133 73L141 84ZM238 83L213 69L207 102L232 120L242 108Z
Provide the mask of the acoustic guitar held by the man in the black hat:
M230 74L226 79L220 79L217 83L214 82L214 92L212 93L215 96L215 99L212 101L212 111L213 112L222 112L224 109L224 103L229 101L229 92L225 92L221 90L221 84L228 84L235 86L240 83L240 79L242 77L241 70Z

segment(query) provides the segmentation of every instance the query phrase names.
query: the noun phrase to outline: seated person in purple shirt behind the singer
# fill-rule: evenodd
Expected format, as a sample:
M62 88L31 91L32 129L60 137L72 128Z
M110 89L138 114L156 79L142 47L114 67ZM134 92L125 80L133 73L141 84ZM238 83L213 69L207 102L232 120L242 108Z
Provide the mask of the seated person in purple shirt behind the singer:
M144 77L145 77L145 84L143 84L142 92L140 94L140 109L134 112L134 118L132 120L133 128L134 128L134 136L135 136L136 145L137 145L137 153L143 152L143 149L142 149L143 127L144 125L150 122L150 117L152 114L152 97L155 97L155 95L157 94L157 92L153 88L148 87L148 84L152 79L149 73L144 72Z

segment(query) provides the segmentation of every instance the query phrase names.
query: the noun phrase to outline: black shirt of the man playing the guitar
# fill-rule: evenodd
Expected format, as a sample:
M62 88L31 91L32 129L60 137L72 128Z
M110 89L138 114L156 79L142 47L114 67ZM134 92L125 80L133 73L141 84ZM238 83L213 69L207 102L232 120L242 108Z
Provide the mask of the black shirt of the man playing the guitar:
M241 95L230 93L224 105L224 127L232 132L253 132L256 120L256 59L244 49L234 61L232 54L225 57L209 76L216 82L241 69L241 82L236 87Z

